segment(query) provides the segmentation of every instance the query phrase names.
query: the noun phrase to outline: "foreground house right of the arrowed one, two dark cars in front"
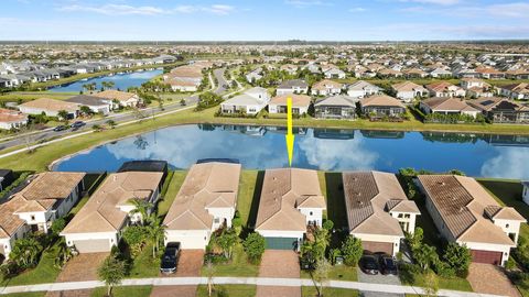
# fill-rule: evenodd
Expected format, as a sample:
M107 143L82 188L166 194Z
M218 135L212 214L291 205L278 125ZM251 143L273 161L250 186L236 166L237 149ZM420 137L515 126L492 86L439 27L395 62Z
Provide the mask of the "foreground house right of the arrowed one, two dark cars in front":
M415 202L408 200L395 174L348 172L342 174L349 233L365 251L395 256L404 232L413 233Z

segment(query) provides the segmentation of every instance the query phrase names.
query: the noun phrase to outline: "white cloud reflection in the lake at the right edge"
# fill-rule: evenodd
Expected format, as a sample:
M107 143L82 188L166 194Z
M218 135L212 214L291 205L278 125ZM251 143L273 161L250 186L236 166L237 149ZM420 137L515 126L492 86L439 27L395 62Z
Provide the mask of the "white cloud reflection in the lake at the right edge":
M529 147L498 147L498 152L483 164L482 176L529 179Z

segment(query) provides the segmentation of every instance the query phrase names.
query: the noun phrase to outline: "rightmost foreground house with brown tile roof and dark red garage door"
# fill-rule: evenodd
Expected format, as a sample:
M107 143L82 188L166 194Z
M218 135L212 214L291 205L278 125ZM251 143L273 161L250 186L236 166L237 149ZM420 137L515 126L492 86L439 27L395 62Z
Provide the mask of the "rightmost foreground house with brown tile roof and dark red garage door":
M526 219L511 207L501 207L474 178L420 175L427 209L441 235L465 245L474 262L505 265L516 248Z

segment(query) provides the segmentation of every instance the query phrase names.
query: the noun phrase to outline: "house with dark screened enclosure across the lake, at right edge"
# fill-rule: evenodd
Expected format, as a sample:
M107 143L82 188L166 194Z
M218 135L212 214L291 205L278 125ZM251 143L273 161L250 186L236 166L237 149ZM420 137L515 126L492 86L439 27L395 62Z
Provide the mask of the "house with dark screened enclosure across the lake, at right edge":
M467 102L494 123L529 123L529 107L514 100L492 97Z

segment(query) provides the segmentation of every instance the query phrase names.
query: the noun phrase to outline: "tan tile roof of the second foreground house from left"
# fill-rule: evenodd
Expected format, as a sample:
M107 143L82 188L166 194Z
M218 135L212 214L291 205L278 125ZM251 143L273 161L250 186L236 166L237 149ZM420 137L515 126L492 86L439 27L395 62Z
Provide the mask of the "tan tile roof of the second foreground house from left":
M132 199L149 199L156 191L163 173L126 172L110 174L62 234L116 232L128 216L120 210Z

